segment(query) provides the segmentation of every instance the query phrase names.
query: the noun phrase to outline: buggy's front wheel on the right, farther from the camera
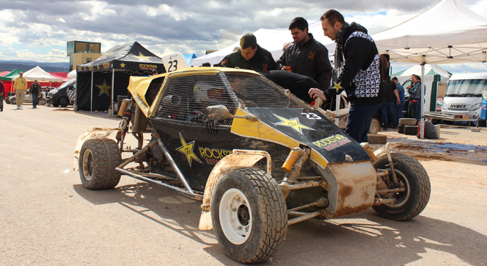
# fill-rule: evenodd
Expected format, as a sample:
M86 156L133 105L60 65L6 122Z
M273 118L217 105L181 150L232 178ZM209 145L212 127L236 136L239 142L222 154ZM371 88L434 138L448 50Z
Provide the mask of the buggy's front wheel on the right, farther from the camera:
M413 219L426 208L426 204L429 201L431 183L428 173L426 173L420 162L411 156L402 153L391 153L391 158L398 183L395 183L392 177L388 156L379 158L374 163L374 167L376 169L386 169L390 172L384 178L389 190L404 188L404 191L379 194L378 197L381 199L396 199L396 201L373 206L372 208L387 219L396 221Z

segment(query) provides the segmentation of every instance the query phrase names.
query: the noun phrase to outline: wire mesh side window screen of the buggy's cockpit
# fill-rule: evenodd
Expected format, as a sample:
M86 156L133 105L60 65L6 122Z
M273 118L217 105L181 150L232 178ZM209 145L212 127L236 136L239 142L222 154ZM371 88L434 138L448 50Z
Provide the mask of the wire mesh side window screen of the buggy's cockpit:
M220 128L230 125L230 118L215 123L205 117L208 106L224 105L230 113L235 112L237 99L227 84L221 72L168 76L155 117L189 126Z

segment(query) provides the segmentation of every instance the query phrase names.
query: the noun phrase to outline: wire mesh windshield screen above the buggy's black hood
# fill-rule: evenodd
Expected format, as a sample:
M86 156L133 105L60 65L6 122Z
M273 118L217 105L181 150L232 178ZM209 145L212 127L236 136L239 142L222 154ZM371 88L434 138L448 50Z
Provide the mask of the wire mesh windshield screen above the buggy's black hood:
M263 76L225 72L240 101L247 107L296 108L306 103Z

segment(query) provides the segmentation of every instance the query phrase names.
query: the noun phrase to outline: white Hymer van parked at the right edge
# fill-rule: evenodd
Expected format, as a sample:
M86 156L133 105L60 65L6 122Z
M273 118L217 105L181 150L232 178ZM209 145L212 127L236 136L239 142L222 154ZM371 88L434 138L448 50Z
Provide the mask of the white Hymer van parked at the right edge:
M443 119L453 122L477 121L480 117L482 92L485 90L487 72L453 74L443 98ZM445 119L445 115L451 119Z

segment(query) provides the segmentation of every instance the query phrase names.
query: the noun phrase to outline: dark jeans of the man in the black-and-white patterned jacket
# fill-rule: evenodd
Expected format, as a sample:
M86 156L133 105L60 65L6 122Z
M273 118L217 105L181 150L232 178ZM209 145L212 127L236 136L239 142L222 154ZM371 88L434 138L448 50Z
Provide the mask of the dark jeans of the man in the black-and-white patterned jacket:
M382 103L365 104L361 106L351 106L349 111L349 121L346 123L345 132L360 142L367 142L372 118L381 107Z

